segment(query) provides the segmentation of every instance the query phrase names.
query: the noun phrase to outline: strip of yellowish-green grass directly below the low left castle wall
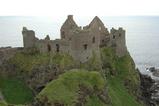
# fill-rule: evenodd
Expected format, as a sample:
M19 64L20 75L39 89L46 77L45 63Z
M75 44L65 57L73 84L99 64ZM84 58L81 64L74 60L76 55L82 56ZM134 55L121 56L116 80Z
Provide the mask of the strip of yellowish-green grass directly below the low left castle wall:
M34 67L39 65L55 64L60 69L73 67L75 62L73 58L67 54L54 54L54 53L35 53L26 54L19 52L15 54L9 61L9 64L14 64L17 72L30 72Z

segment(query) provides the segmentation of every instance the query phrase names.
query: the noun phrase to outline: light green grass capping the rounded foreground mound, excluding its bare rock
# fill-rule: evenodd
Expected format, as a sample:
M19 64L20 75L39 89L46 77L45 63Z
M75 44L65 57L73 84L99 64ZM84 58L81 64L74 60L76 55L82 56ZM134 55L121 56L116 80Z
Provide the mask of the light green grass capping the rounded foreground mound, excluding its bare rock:
M99 90L103 90L105 82L98 72L71 70L60 75L57 80L50 82L44 90L40 92L37 98L42 102L47 98L51 104L57 102L67 106L74 106L74 102L76 102L78 98L79 85L83 85L89 90L93 90L94 86ZM91 97L89 101L93 101L94 98L96 99L97 97ZM98 103L100 100L96 101Z

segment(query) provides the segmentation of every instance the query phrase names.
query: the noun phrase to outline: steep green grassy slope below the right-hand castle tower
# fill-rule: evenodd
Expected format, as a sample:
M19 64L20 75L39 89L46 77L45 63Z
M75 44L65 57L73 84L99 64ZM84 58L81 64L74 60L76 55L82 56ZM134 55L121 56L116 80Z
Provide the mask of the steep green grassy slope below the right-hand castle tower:
M136 73L133 60L127 54L118 58L111 48L102 49L103 64L109 67L106 72L109 95L113 106L140 106L134 96L139 86L139 76ZM115 72L110 72L110 71ZM111 75L110 73L113 73ZM124 86L124 83L127 83Z

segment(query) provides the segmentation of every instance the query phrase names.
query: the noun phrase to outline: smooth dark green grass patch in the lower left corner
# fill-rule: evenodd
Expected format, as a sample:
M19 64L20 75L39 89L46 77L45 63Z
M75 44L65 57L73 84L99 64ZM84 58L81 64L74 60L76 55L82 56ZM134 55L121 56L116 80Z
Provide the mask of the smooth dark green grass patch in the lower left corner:
M0 90L7 103L25 104L33 100L32 91L22 80L16 78L0 78Z

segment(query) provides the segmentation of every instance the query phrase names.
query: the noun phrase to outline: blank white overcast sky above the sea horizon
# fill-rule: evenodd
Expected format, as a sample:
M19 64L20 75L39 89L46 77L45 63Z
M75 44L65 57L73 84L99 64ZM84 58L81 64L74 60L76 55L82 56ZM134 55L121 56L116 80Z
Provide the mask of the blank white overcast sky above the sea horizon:
M0 0L0 15L159 15L159 0Z

